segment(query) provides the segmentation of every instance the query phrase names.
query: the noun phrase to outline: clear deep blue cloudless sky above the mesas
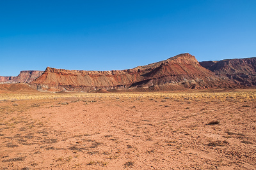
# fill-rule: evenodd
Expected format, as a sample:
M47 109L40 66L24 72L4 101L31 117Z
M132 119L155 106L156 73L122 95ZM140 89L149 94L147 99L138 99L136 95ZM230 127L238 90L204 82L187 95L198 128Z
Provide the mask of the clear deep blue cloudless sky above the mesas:
M255 0L0 0L0 75L256 57Z

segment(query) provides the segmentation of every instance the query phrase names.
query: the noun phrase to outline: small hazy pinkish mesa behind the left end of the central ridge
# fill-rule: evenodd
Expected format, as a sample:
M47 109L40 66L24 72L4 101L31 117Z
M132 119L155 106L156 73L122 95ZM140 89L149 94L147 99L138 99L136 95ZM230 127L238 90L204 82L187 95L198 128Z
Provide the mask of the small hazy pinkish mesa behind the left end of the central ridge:
M18 76L13 77L11 80L4 81L3 83L30 83L43 73L44 71L20 71Z

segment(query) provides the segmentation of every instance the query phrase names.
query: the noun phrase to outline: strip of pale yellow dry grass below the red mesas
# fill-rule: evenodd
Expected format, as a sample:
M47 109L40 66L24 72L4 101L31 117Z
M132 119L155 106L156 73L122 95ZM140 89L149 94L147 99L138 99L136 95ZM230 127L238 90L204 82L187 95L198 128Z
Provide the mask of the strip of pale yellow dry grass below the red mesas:
M92 98L94 100L88 102L97 102L95 99L162 99L161 101L201 101L206 99L207 101L252 101L256 99L255 90L237 90L230 92L211 92L209 91L188 91L188 92L145 92L145 93L108 93L108 94L93 94L93 93L71 93L71 94L54 94L54 93L36 93L36 94L0 94L0 101L9 100L24 100L24 99L58 99L58 98L76 98L76 100L70 101L70 103L76 103L81 101L79 98ZM78 99L77 99L78 98ZM68 104L68 103L61 103ZM35 104L35 106L40 106L40 104ZM248 107L244 105L243 107Z

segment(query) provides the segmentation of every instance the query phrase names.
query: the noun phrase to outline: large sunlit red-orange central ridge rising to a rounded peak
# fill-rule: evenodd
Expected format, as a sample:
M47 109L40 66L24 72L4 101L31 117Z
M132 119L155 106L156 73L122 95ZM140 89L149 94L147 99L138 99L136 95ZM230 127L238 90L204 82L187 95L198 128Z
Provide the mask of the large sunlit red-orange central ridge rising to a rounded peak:
M200 66L193 55L183 53L170 59L120 71L78 71L47 67L31 84L39 90L89 91L97 89L136 89L165 86L168 89L228 87L228 81ZM160 89L163 89L162 87Z

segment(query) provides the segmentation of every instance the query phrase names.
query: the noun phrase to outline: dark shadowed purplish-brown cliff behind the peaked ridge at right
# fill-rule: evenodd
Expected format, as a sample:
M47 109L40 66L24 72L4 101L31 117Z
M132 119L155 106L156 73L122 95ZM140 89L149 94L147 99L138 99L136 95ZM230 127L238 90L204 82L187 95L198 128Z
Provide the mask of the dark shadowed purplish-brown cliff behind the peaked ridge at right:
M214 62L200 62L201 66L213 71L217 76L228 78L238 85L256 86L256 57L230 59Z

